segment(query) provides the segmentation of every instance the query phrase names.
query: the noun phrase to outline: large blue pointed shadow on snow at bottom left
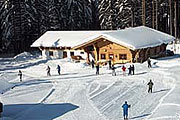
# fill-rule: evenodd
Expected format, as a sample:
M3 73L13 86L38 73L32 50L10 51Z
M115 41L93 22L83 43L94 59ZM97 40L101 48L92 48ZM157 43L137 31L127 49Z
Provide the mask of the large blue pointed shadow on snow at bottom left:
M5 105L3 117L26 120L52 120L79 108L71 103Z

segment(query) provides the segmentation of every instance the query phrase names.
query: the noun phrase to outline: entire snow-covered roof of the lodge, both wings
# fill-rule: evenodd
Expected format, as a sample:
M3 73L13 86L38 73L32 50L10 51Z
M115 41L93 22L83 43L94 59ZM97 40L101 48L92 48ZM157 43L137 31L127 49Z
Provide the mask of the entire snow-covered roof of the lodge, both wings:
M132 50L166 44L175 39L171 35L145 26L116 31L48 31L31 47L78 48L98 37L103 37Z

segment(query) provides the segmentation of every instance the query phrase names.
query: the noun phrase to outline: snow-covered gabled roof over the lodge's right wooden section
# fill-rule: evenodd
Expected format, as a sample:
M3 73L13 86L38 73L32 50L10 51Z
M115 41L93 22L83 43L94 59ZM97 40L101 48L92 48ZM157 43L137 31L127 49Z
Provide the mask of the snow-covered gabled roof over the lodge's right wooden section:
M132 50L154 47L175 40L175 38L171 35L145 26L102 33L101 37L114 43L126 46ZM83 46L86 43L93 41L95 38L97 38L97 36L94 36L94 38L92 37L91 40L85 39L74 48Z

